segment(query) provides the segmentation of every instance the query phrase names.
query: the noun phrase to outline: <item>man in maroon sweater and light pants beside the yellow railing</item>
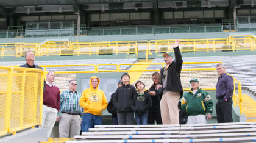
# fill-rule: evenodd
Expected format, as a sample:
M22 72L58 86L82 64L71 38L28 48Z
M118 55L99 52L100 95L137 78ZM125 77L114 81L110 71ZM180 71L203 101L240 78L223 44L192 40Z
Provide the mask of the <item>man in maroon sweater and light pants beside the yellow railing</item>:
M55 73L49 71L46 75L46 86L43 92L43 115L42 127L46 130L47 137L51 135L57 118L57 113L60 109L60 90L54 84Z

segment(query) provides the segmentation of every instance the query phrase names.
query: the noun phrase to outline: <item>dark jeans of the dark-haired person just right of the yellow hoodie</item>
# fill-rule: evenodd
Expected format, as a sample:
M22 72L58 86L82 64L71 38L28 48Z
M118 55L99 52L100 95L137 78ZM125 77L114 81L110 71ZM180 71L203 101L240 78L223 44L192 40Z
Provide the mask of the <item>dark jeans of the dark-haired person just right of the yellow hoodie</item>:
M121 111L118 112L118 125L133 125L134 112Z

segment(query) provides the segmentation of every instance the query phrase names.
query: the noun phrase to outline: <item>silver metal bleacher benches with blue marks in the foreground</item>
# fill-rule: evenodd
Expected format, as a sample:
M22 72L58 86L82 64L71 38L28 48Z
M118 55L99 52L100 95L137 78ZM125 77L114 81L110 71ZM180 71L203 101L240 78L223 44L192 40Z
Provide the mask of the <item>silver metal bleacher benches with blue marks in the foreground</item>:
M255 122L200 125L98 125L66 142L254 142ZM232 131L232 133L230 133Z

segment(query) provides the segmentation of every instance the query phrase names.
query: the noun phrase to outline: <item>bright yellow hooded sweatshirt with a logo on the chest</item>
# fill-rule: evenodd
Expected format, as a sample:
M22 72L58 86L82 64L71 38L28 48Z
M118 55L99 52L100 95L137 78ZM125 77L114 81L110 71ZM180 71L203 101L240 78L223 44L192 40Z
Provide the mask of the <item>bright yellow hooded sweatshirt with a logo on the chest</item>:
M91 84L91 79L98 79L98 85L94 89ZM90 79L90 88L83 91L79 101L80 107L84 108L84 113L91 113L93 115L101 115L102 111L107 108L107 99L102 90L99 90L99 78L92 76Z

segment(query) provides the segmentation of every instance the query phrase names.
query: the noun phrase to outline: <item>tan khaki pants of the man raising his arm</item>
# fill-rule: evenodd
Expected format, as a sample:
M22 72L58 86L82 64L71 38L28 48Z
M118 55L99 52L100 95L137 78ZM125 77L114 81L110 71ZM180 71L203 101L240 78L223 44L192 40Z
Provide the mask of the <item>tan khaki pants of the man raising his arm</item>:
M161 117L163 124L179 124L180 92L166 91L160 101Z

